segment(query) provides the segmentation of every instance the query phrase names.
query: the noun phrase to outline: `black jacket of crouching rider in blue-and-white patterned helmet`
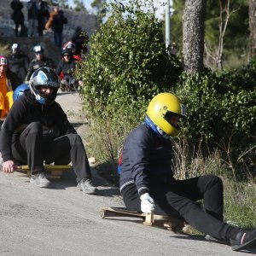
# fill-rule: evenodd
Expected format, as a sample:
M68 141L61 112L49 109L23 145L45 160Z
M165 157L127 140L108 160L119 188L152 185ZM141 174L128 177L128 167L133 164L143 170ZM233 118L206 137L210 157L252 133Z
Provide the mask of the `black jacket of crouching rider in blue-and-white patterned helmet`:
M32 122L41 122L47 127L54 127L58 130L59 136L70 133L77 133L67 120L67 115L57 102L49 106L43 106L36 102L30 90L25 91L14 103L4 120L0 133L0 150L3 161L13 160L11 144L19 139L23 125Z

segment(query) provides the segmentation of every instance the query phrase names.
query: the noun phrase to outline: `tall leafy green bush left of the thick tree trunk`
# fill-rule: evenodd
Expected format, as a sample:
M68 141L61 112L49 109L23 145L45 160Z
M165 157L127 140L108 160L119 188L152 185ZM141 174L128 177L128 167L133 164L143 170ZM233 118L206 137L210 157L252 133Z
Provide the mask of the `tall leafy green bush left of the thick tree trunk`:
M109 141L105 131L114 131L118 139L113 143L119 143L112 145L114 150L145 118L152 96L173 90L183 71L166 50L160 22L137 8L112 5L107 22L90 38L90 55L76 70L84 84L81 96L92 131L102 142Z

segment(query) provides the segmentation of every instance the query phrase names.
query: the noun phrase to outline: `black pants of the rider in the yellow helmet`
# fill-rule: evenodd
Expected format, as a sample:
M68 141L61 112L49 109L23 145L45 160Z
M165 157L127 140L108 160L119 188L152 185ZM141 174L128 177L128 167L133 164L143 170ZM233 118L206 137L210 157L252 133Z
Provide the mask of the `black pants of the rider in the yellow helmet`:
M125 206L141 211L135 184L122 189ZM182 217L188 224L221 240L235 239L238 229L223 222L223 183L214 175L174 180L170 187L152 187L156 214ZM204 210L195 201L203 199Z

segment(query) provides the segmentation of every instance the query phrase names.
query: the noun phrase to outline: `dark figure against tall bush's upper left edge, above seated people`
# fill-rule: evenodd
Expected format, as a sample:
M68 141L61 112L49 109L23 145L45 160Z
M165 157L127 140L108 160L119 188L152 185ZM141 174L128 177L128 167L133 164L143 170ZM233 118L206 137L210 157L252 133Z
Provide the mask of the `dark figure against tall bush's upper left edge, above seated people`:
M73 33L72 41L76 45L76 53L78 55L88 51L86 44L89 41L89 36L87 32L82 30L81 26L76 27L76 30Z

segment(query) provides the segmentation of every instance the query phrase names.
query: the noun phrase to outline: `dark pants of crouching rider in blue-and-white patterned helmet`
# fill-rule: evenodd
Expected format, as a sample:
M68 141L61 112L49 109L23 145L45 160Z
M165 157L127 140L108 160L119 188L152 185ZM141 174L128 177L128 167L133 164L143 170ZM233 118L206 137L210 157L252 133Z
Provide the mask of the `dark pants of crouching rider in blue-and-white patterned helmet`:
M12 144L12 154L17 162L30 166L32 173L44 170L44 160L46 163L55 162L56 165L67 165L72 161L78 183L83 178L91 178L81 137L67 134L51 138L50 135L43 135L39 122L31 123L20 134L20 140Z

